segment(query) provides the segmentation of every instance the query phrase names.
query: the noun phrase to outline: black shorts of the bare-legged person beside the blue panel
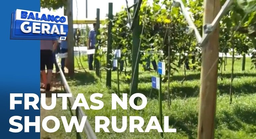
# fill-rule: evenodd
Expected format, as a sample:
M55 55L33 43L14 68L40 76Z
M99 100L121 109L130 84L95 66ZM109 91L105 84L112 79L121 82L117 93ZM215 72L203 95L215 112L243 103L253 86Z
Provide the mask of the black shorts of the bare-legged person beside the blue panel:
M53 69L53 55L51 50L41 50L40 51L40 70Z

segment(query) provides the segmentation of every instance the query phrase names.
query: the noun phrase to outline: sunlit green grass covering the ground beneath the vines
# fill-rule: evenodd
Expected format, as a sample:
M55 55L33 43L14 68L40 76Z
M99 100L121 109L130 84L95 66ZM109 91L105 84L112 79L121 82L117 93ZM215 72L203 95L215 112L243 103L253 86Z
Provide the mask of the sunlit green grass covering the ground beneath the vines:
M88 67L85 57L81 58L83 66ZM245 71L241 71L241 59L235 60L233 81L233 102L229 105L229 86L231 74L231 59L228 59L226 71L223 70L223 80L218 78L217 107L215 116L215 138L223 139L255 139L256 138L256 72L250 70L250 59L246 59ZM77 69L77 63L75 61ZM101 110L84 110L88 116L92 128L95 128L95 116L117 116L117 126L122 127L122 116L141 116L144 118L145 130L151 116L159 117L158 112L158 91L151 92L151 76L156 76L154 71L139 70L138 93L143 93L148 98L147 106L141 111L111 110L111 93L117 93L117 72L112 72L112 89L106 88L106 72L102 71L102 82L96 77L94 71L77 70L75 77L68 78L69 86L74 96L83 93L90 106L90 95L93 93L102 93L104 107ZM177 128L177 133L164 133L164 138L170 139L193 139L197 138L199 91L200 91L200 72L187 71L186 81L182 84L184 78L183 68L179 69L171 77L170 89L172 94L171 107L167 106L167 82L163 85L163 116L169 116L169 127ZM120 76L120 92L129 93L129 84L125 79L124 73ZM150 93L151 92L151 93ZM139 102L140 103L140 102ZM61 103L58 103L61 105ZM65 110L63 110L65 111ZM129 121L129 120L128 120ZM63 126L63 125L61 125ZM129 127L129 124L128 124ZM160 138L157 130L150 130L149 133L129 133L129 128L123 133L115 133L111 125L110 133L101 130L96 133L99 139L148 139ZM63 131L64 132L64 131ZM66 138L63 134L61 137ZM75 138L72 136L71 138Z

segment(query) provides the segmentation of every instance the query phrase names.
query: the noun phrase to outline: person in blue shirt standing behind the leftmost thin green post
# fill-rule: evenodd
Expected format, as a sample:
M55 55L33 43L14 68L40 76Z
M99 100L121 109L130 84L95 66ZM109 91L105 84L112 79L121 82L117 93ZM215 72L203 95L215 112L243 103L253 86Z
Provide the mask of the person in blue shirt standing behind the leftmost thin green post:
M88 50L95 49L96 44L96 23L93 23L93 29L89 32ZM89 70L93 70L93 54L88 55Z

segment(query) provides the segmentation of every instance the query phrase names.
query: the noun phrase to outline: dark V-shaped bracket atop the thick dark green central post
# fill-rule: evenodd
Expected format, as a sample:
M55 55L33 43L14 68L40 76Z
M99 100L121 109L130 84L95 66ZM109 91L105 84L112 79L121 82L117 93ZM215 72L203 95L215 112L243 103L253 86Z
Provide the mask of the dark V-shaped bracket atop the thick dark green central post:
M127 6L127 14L128 14L128 20L129 20L129 24L130 24L130 29L132 30L134 28L134 23L133 23L133 19L135 19L138 16L139 10L140 10L140 6L141 6L142 0L137 0L136 3L134 3L131 7L128 7L128 1L126 0L126 6ZM133 13L133 19L131 22L131 18L130 18L130 9L132 7L136 6L136 10Z

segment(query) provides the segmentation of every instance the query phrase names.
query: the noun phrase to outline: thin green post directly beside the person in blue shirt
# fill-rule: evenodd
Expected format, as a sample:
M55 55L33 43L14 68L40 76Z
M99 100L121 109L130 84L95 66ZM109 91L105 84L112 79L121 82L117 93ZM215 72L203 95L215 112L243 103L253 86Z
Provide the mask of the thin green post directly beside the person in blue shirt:
M95 65L95 71L96 75L100 76L100 61L98 59L99 56L99 40L97 39L97 36L100 34L100 9L97 9L97 17L96 17L96 45L95 45L95 54L94 54L94 65Z

